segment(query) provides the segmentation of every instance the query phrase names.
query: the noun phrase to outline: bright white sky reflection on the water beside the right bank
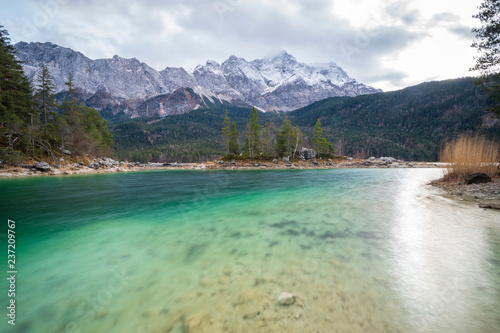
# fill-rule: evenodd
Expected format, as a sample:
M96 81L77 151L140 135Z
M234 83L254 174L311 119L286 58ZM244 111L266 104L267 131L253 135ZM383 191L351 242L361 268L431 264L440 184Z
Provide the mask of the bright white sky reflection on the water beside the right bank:
M394 203L393 275L402 311L415 332L498 332L491 293L498 296L500 280L488 263L498 247L490 236L500 234L499 214L442 197L423 185L431 179L407 174Z

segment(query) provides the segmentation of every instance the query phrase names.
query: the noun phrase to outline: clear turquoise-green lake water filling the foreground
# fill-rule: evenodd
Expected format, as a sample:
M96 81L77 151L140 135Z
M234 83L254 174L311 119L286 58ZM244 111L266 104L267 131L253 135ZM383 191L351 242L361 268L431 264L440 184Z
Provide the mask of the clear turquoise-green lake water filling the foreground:
M17 223L19 271L17 325L4 319L0 327L498 332L500 214L425 185L440 175L168 171L0 180L2 220ZM296 303L280 306L283 291Z

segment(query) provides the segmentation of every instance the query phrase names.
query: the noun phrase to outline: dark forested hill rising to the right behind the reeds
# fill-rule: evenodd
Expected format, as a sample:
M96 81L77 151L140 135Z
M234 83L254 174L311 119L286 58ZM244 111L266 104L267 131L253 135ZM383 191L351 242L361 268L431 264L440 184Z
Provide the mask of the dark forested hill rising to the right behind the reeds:
M488 100L472 78L423 83L400 91L356 98L329 98L290 114L297 125L317 119L327 138L346 155L436 160L447 138L482 128Z

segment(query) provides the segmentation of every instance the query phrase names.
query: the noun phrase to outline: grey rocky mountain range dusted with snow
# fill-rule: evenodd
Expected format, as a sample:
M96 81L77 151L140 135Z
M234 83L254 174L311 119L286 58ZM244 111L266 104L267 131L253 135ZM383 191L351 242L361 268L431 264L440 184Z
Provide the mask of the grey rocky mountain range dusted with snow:
M328 97L380 92L356 82L335 63L304 64L286 52L251 62L236 56L222 64L207 61L189 73L172 67L157 71L135 58L92 60L52 43L19 42L15 48L34 82L40 66L46 64L61 92L72 73L75 86L91 106L125 103L131 116L158 114L161 105L165 115L185 113L201 107L205 99L290 111Z

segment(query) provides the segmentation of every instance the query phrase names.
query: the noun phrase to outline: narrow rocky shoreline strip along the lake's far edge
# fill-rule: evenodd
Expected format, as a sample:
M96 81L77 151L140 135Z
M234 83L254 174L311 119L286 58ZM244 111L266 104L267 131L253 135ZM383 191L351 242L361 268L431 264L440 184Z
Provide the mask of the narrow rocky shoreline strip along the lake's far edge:
M392 157L370 157L355 159L341 157L336 159L274 159L272 161L231 161L215 160L204 163L139 163L115 161L111 158L97 158L78 163L49 164L39 161L31 164L6 165L0 162L0 178L27 176L61 176L78 174L96 174L111 172L130 172L146 170L255 170L255 169L340 169L340 168L433 168L436 163L406 162Z

